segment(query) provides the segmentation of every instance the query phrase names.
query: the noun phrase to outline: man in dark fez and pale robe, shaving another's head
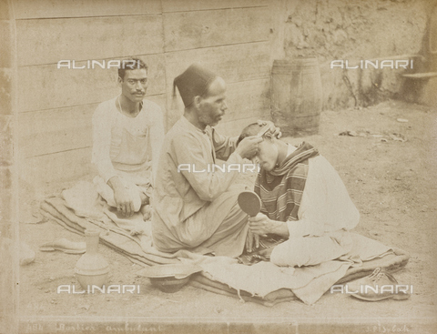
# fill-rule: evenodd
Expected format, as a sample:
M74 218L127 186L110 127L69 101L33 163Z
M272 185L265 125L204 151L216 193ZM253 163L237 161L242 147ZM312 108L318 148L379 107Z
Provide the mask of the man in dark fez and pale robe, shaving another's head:
M165 252L185 248L238 257L249 228L248 217L237 203L244 186L233 185L239 171L211 166L216 159L226 160L225 166L241 164L243 158L257 153L261 139L247 137L236 147L238 137L217 133L214 126L228 109L226 84L208 69L189 66L174 86L178 86L185 112L168 131L159 157L153 197L154 245Z

